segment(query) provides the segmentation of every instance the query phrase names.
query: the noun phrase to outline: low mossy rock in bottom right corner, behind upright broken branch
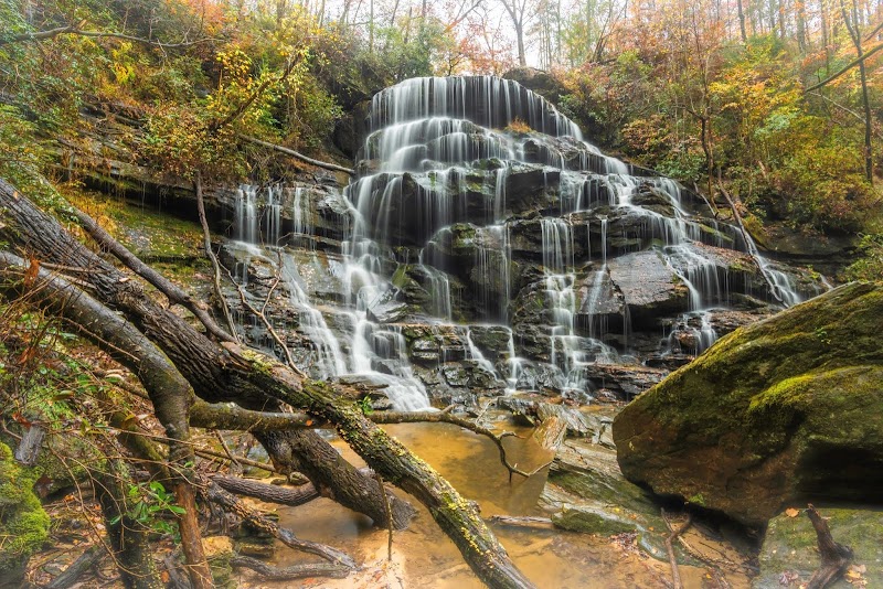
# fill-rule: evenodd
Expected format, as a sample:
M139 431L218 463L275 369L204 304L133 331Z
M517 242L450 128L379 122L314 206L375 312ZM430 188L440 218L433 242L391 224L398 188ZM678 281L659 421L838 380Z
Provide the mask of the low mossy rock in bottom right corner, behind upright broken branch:
M828 527L834 542L852 548L854 565L850 572L852 580L863 580L863 587L883 587L883 511L877 508L830 508L819 507L828 520ZM795 516L778 515L769 521L764 545L758 557L760 574L753 587L781 587L783 574L796 577L792 587L807 582L819 568L819 551L816 531L804 513ZM830 586L832 589L860 587L841 579Z

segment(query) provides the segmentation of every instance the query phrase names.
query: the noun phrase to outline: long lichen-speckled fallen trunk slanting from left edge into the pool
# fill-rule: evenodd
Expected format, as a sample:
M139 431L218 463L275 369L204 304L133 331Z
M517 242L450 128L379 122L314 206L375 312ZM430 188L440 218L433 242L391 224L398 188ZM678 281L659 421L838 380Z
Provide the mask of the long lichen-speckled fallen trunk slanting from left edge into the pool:
M210 341L152 301L135 280L83 247L53 217L3 181L0 206L6 208L7 223L0 226L2 238L44 259L93 270L85 278L96 296L126 313L156 342L200 397L211 401L245 398L254 406L260 406L262 400L266 405L266 397L270 397L328 420L375 472L428 507L482 581L494 588L533 587L512 564L476 505L347 400L347 385L305 381L264 354Z

